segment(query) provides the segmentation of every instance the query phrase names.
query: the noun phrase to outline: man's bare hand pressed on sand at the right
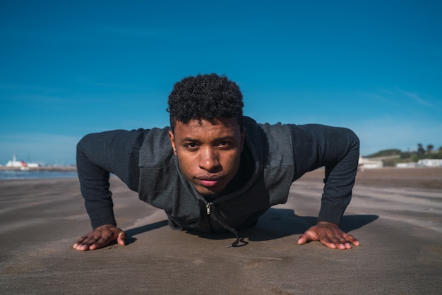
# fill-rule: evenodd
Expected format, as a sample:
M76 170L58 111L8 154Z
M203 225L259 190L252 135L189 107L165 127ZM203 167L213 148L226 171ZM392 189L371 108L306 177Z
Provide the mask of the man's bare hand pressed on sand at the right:
M330 222L318 222L318 224L307 229L304 234L299 236L298 244L308 243L310 241L320 241L324 246L332 249L350 249L352 244L359 246L360 243L351 234L342 231L337 224Z

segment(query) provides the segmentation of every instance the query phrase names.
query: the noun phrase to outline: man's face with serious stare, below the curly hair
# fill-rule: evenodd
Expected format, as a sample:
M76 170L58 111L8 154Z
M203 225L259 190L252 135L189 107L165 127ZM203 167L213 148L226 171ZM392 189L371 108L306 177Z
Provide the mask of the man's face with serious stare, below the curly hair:
M244 131L237 118L210 121L177 121L174 132L169 131L179 169L198 193L220 193L237 173Z

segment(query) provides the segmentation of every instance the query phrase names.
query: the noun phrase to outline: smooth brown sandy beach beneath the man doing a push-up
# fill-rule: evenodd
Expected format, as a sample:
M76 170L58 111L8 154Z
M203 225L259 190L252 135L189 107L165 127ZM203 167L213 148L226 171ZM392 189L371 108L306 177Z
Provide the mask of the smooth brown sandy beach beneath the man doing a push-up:
M77 179L0 181L1 294L441 294L442 168L366 169L342 220L362 246L299 234L316 222L323 171L233 236L169 229L165 213L112 178L128 245L78 252L90 231Z

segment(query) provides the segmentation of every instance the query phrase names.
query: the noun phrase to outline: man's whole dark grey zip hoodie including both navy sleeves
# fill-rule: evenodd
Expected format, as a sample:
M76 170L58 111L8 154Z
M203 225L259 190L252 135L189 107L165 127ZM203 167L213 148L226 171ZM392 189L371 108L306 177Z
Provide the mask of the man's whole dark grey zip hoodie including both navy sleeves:
M340 224L350 203L359 139L347 128L318 124L257 124L243 118L244 150L224 193L205 198L179 170L166 128L107 131L77 145L80 188L92 228L116 224L109 174L139 198L165 210L173 229L232 231L248 227L269 207L285 203L292 182L325 167L318 220Z

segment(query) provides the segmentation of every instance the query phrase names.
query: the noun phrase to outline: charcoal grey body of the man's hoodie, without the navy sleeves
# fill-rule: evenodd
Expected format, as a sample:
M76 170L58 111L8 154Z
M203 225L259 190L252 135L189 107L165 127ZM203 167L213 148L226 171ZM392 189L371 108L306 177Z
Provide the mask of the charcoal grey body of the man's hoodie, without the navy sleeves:
M181 174L169 141L170 128L153 128L139 155L141 200L165 210L171 227L201 230L208 230L204 221L211 212L220 219L215 220L215 227L225 230L225 224L241 226L272 205L285 203L294 174L288 128L282 124L256 124L249 117L244 117L243 124L246 138L239 173L246 174L244 183L209 201Z

